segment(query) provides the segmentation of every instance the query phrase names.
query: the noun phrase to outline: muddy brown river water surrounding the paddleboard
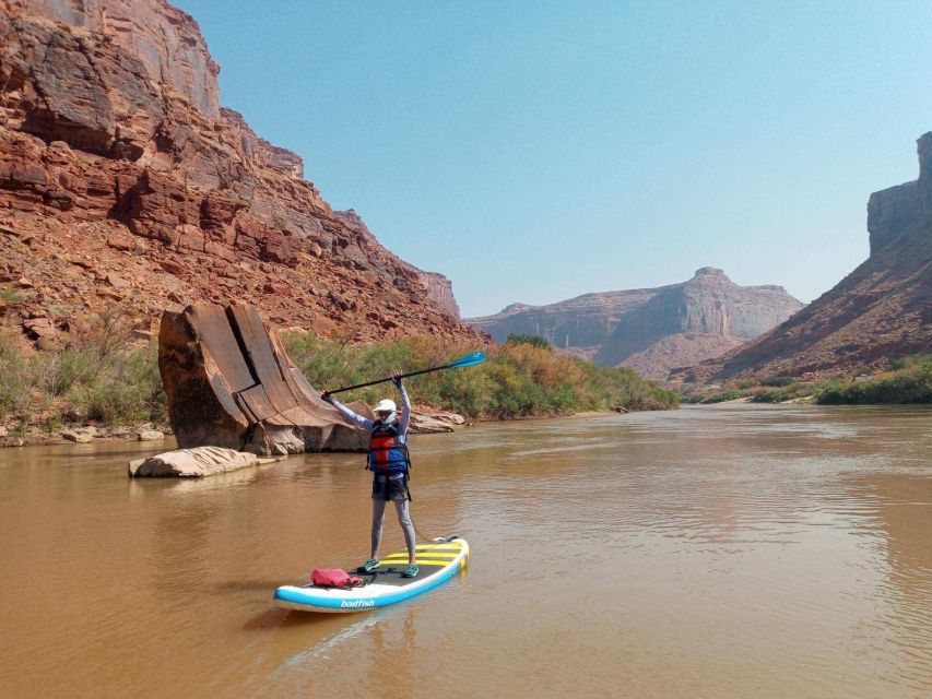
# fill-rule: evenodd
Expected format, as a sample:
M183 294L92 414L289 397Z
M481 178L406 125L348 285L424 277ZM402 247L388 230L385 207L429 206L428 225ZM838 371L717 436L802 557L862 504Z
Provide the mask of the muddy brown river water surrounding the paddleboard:
M355 615L272 593L367 557L362 455L126 477L160 447L0 452L0 696L932 696L930 410L413 437L415 523L471 564Z

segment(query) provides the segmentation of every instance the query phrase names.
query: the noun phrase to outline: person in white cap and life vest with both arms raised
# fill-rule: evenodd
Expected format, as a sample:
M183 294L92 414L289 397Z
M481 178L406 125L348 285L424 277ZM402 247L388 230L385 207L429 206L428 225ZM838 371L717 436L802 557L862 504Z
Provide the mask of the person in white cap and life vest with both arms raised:
M384 399L375 407L376 419L367 419L357 415L340 401L325 391L321 398L333 405L343 417L367 430L369 440L368 465L373 472L373 533L371 553L369 559L361 566L365 571L379 566L379 547L381 545L382 522L385 521L386 505L394 502L398 522L404 532L404 543L408 546L408 568L401 574L414 578L417 574L417 558L414 546L414 523L411 521L411 490L408 488L408 471L411 460L408 455L408 427L411 423L411 400L401 382L398 371L392 372L391 380L401 394L401 417L394 401Z

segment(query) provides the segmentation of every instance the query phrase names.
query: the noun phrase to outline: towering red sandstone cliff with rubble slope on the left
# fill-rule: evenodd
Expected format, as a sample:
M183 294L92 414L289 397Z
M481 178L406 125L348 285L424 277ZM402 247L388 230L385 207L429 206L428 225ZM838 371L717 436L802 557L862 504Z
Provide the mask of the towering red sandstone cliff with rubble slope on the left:
M119 304L245 301L355 340L481 337L222 108L194 20L164 0L0 0L0 288L33 337Z

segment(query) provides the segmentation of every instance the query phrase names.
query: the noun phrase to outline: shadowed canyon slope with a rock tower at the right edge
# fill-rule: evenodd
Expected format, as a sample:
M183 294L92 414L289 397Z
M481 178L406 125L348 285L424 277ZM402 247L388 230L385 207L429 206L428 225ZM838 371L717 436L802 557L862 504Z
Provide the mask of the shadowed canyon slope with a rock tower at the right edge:
M919 139L919 179L871 194L871 253L790 320L685 381L851 376L932 352L932 132Z

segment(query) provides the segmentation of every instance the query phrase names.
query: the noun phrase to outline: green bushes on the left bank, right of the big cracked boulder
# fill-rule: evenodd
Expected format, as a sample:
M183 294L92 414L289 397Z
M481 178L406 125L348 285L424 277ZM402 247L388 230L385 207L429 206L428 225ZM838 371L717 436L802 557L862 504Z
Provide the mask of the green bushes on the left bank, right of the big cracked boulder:
M388 376L440 366L476 350L436 337L405 337L390 343L347 345L311 334L283 336L288 355L315 386L339 388ZM546 341L512 336L485 348L488 359L475 367L426 374L411 379L418 404L473 418L507 419L565 415L578 411L664 410L679 395L641 378L632 369L605 369L565 357ZM374 403L386 387L347 394Z

